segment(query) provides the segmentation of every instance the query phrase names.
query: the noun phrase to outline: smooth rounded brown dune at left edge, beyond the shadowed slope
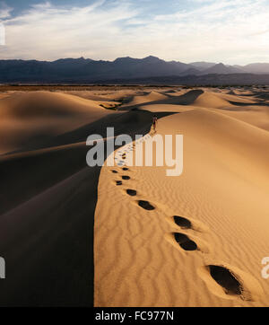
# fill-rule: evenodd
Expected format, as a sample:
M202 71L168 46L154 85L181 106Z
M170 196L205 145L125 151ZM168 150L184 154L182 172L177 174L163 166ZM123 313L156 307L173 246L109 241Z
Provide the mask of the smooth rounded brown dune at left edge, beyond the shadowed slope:
M95 101L53 92L13 93L0 101L0 154L43 142L111 113Z

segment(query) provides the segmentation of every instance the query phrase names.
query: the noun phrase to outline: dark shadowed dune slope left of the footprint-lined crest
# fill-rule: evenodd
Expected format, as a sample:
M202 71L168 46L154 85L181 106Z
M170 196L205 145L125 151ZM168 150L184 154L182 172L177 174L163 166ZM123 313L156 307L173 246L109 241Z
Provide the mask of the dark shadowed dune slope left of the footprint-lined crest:
M29 110L39 95L32 99L27 94ZM62 102L64 114L67 104L73 115L79 110L77 101L74 105L69 100L67 96L67 103ZM40 107L46 110L43 101ZM86 166L90 147L85 141L92 133L106 138L107 127L115 127L116 136L147 133L152 114L104 110L103 115L103 109L84 102L80 127L68 131L67 123L68 132L39 141L32 136L17 153L0 156L0 251L8 274L0 283L2 306L93 304L93 222L100 168ZM27 111L27 102L24 105Z

